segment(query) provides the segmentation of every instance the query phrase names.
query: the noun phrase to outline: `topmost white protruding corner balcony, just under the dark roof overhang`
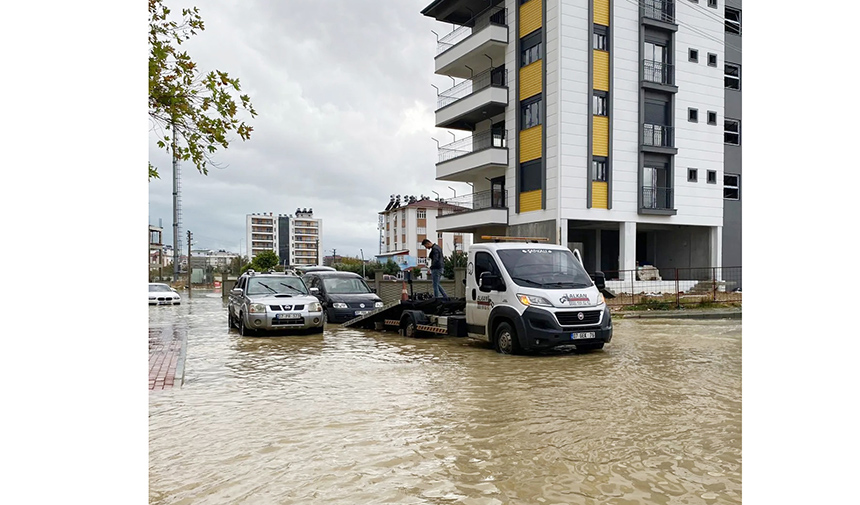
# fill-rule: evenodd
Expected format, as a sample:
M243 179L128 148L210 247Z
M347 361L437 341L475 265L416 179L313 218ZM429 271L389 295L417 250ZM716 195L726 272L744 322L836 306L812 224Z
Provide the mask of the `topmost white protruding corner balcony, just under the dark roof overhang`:
M508 47L506 9L490 7L458 24L463 26L436 44L437 74L469 79L475 71L504 63Z

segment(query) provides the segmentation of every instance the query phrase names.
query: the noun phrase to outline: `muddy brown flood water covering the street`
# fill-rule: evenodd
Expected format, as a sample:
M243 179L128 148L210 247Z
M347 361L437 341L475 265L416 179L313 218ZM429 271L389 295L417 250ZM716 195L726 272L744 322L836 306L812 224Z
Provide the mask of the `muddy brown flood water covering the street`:
M220 296L149 396L152 504L739 504L740 320L616 319L603 351L503 356L329 325L243 338Z

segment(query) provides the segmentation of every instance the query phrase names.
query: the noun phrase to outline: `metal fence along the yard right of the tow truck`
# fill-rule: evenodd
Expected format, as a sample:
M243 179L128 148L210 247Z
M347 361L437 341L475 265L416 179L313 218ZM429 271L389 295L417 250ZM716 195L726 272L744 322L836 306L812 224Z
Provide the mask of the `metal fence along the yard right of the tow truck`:
M604 271L610 306L668 309L741 303L741 267Z

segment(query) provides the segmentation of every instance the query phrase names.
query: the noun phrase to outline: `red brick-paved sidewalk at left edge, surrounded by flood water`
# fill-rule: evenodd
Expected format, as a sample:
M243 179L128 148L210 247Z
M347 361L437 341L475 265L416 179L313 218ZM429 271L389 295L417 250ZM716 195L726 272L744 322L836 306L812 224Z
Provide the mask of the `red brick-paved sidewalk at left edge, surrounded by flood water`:
M185 373L185 328L149 328L149 389L182 386Z

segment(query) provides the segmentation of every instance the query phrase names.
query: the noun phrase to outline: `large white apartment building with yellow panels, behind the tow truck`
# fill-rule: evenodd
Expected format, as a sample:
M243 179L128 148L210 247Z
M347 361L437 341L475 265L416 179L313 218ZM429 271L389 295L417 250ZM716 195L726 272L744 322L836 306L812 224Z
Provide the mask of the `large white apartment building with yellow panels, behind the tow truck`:
M454 85L436 126L471 132L439 147L436 179L474 188L438 230L546 237L609 277L721 266L740 224L724 215L725 1L433 1L422 14L457 26L438 39Z

